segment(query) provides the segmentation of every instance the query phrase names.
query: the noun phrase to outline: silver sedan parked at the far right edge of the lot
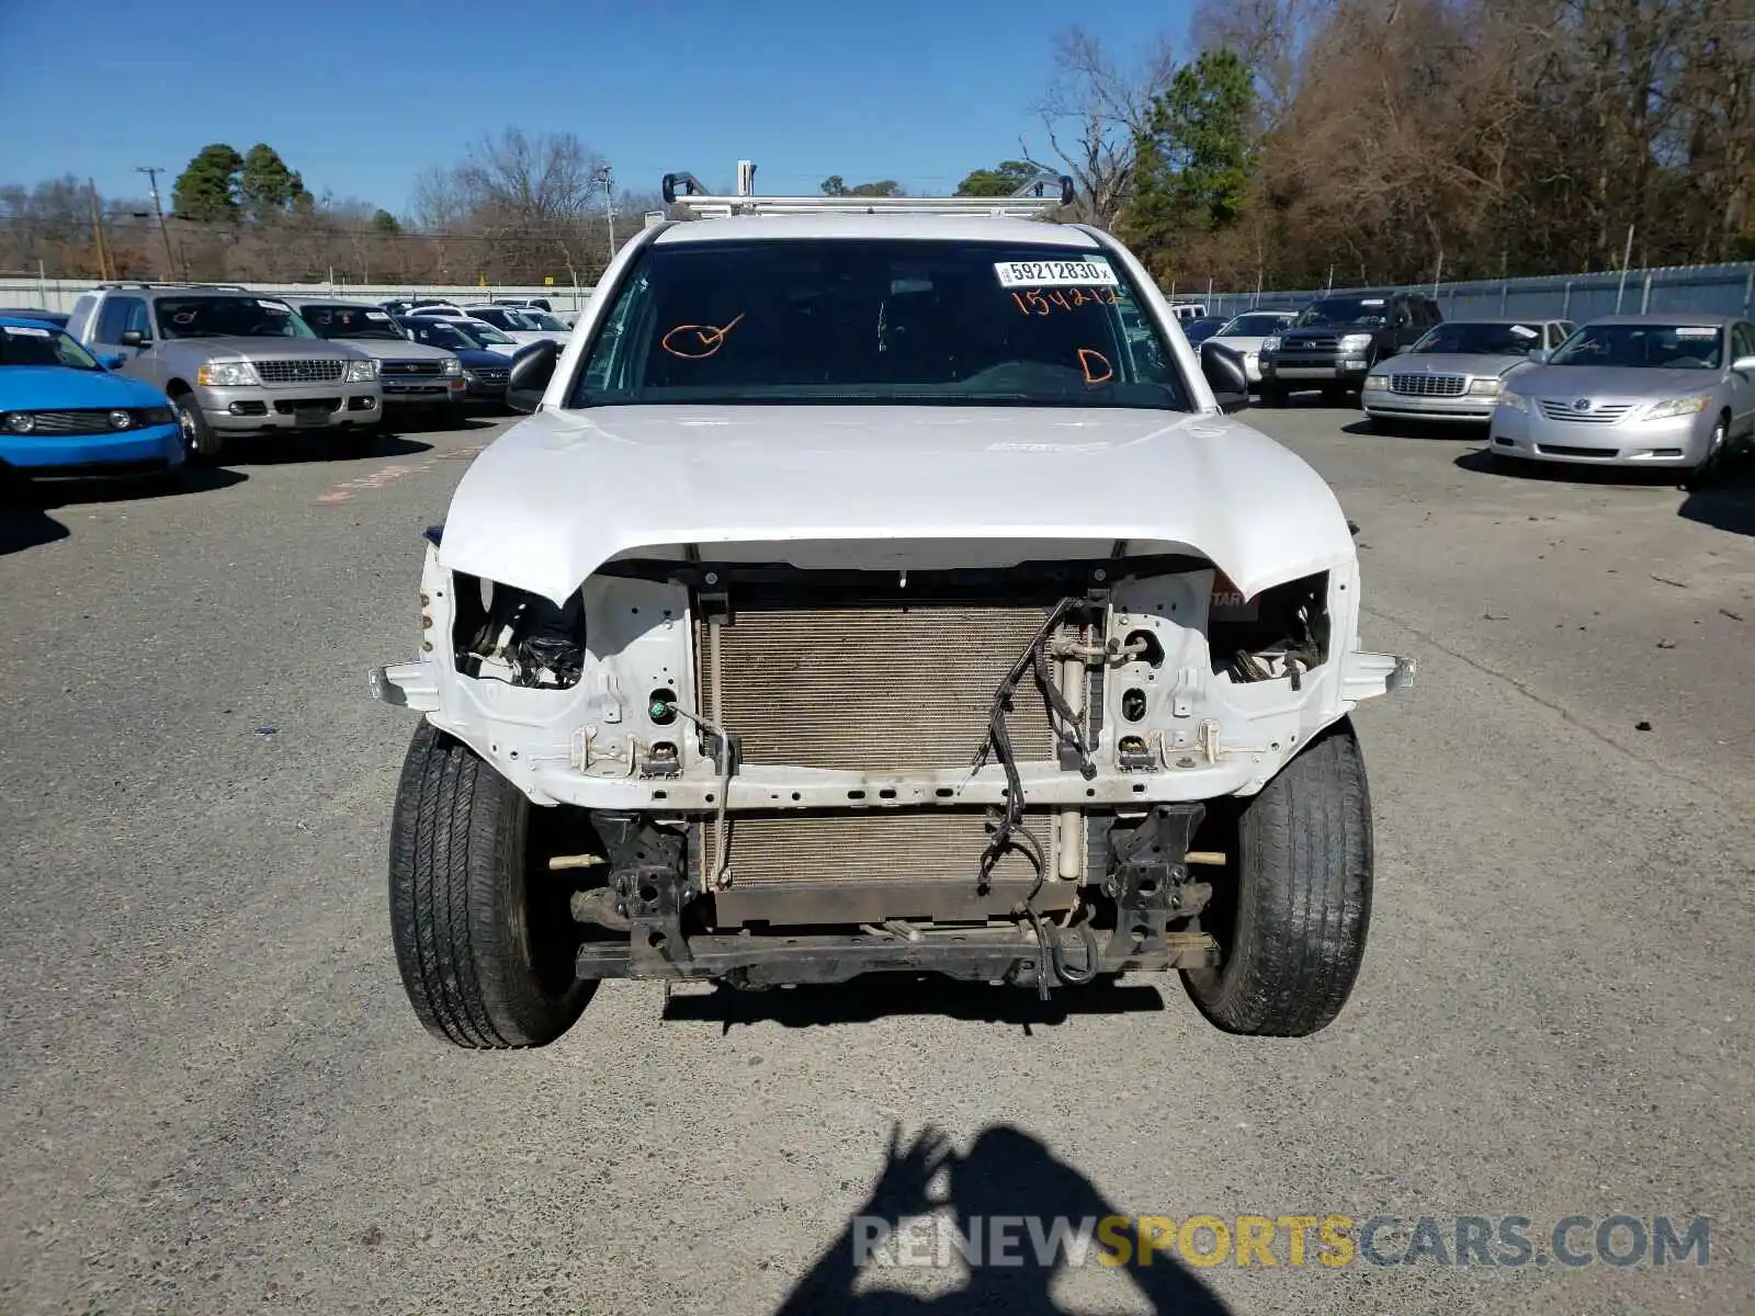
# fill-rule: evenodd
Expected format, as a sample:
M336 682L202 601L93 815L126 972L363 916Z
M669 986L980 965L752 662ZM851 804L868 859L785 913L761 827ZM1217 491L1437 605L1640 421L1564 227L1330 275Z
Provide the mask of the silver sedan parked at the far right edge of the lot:
M1674 467L1709 479L1755 435L1755 325L1730 316L1594 319L1506 381L1495 458Z

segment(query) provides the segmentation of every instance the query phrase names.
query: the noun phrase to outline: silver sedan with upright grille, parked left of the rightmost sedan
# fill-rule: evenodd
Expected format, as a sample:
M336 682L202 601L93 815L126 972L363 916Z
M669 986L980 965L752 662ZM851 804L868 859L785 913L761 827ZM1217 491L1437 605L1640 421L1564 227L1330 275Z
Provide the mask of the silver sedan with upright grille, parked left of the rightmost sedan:
M1365 375L1360 405L1376 425L1462 421L1485 425L1504 379L1558 347L1565 319L1448 319Z

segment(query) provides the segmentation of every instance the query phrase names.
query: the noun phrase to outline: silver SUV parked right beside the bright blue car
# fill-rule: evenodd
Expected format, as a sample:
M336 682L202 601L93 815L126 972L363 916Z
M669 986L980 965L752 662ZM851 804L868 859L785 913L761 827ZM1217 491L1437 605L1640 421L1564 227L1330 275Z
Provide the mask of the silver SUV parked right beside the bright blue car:
M195 458L269 430L333 428L370 444L384 419L376 360L242 288L98 284L74 304L67 332L165 390Z

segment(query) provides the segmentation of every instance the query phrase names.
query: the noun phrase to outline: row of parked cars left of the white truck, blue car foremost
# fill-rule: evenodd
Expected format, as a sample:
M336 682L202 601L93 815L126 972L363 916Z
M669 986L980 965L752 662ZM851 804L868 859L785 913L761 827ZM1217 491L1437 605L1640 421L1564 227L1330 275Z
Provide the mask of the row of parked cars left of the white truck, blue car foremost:
M542 305L393 314L225 284L104 283L72 312L0 311L0 474L176 474L279 430L365 449L416 412L456 425L472 404L504 405L516 353L567 333Z

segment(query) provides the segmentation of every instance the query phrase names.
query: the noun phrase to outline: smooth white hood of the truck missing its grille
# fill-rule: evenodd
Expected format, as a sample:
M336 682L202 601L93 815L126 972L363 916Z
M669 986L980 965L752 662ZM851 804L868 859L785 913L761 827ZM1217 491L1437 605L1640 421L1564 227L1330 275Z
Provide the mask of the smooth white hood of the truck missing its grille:
M1225 416L658 405L507 430L458 484L439 561L563 602L609 558L660 546L862 542L858 563L897 569L981 542L1104 556L1123 539L1199 553L1244 595L1353 560L1322 477Z

